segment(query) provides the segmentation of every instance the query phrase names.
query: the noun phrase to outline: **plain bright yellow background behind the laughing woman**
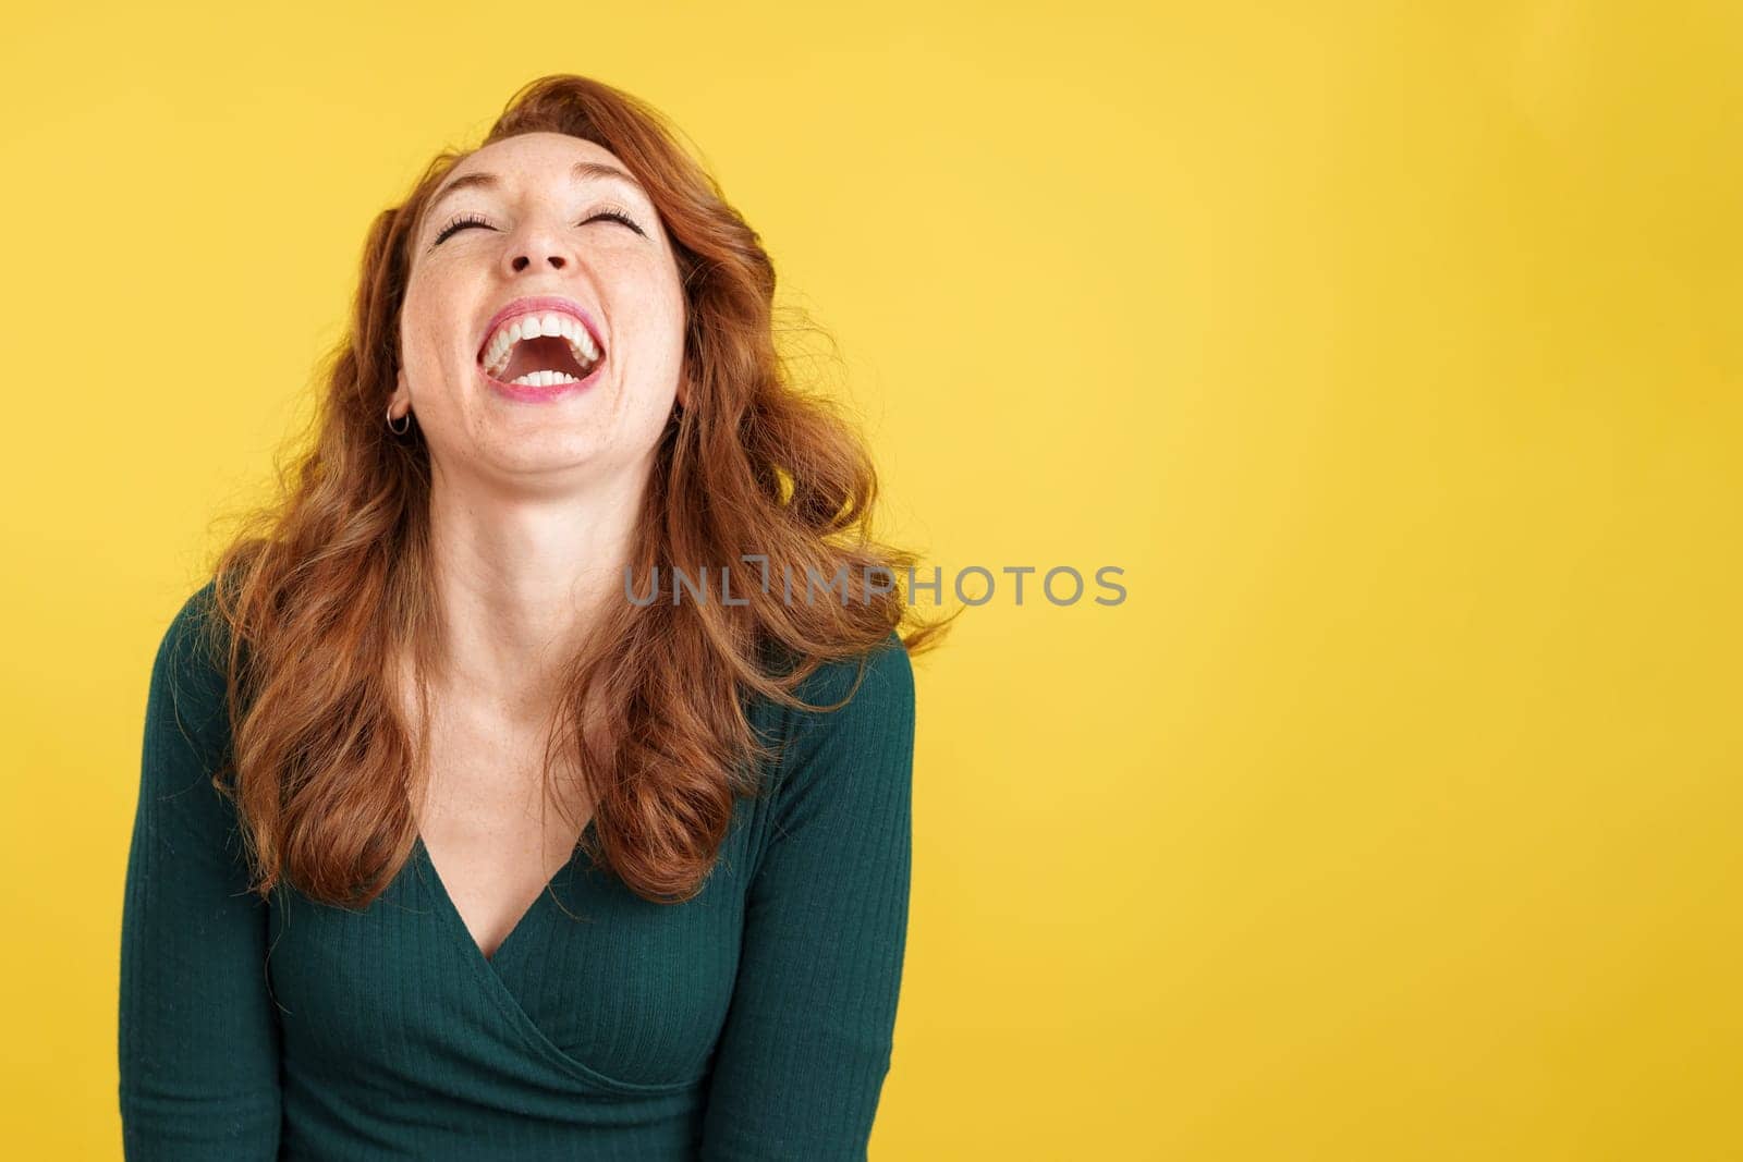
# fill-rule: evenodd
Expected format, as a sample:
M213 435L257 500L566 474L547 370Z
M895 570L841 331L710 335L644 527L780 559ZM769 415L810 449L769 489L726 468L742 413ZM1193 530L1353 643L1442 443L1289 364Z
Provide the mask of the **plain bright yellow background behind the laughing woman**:
M1731 3L31 5L0 1153L119 1159L152 653L509 94L666 110L1009 589L917 662L875 1159L1734 1159Z

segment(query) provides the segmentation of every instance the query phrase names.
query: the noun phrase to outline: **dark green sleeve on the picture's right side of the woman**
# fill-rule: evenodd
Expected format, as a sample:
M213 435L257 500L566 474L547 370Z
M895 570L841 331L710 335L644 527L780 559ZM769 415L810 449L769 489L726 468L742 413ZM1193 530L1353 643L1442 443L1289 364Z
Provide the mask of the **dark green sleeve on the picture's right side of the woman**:
M858 662L800 690L833 706ZM704 1162L865 1159L908 929L913 671L892 632L854 699L790 716L715 1052Z

